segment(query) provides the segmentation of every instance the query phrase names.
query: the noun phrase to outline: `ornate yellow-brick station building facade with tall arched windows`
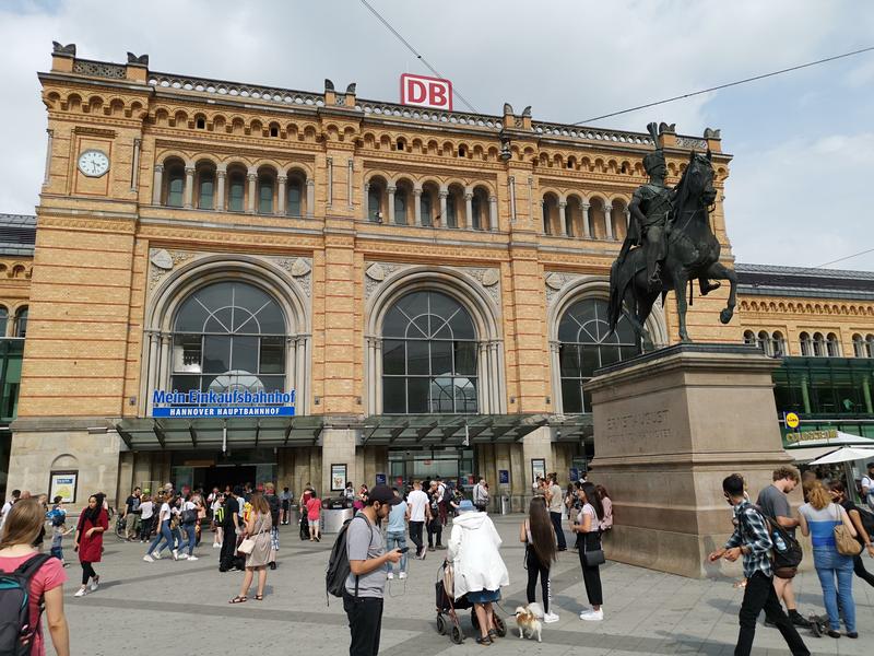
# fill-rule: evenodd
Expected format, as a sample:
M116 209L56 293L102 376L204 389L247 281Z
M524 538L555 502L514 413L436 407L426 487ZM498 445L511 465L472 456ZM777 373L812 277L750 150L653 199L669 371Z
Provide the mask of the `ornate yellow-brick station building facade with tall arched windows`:
M648 136L509 105L373 102L330 81L308 93L160 73L74 47L39 80L36 248L17 291L0 283L8 316L28 313L10 487L75 471L80 499L167 480L329 494L340 478L481 473L521 495L536 472L583 466L582 383L636 353L627 326L606 335L604 308ZM670 184L692 150L712 151L732 263L718 131L664 126L660 140ZM742 339L737 318L717 320L725 298L696 298L693 338ZM649 341L672 343L675 326L669 298ZM155 393L174 389L293 390L295 414L164 417Z

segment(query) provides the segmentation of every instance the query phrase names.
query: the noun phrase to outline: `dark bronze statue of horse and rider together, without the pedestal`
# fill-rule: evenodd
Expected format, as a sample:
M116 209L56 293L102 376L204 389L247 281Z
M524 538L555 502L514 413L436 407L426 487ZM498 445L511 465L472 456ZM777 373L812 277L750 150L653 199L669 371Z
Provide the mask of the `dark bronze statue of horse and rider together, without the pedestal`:
M710 229L710 211L717 197L710 151L706 155L693 151L686 171L672 189L664 184L666 166L658 127L651 122L647 129L656 150L643 157L649 183L638 187L628 203L631 214L628 233L610 270L610 328L616 328L624 305L641 343L643 325L656 298L661 295L664 303L668 292L673 290L680 339L689 342L686 286L690 304L695 279L704 296L720 286L711 280L728 280L729 302L719 315L728 324L734 314L737 278L719 261L720 244Z

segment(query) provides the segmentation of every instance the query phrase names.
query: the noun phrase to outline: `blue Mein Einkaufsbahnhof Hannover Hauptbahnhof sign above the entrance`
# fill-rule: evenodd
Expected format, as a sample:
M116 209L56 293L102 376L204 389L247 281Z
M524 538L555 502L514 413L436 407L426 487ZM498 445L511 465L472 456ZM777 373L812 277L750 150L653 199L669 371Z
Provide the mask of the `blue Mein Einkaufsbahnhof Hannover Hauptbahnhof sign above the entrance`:
M152 393L152 417L294 417L291 391L166 391Z

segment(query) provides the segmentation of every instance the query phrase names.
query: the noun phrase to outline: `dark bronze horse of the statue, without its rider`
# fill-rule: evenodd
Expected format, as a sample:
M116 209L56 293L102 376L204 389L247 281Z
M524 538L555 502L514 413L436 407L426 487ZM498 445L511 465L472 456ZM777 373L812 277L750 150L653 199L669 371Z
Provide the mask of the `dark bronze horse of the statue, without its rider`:
M673 210L669 219L668 249L661 267L660 284L652 285L647 280L647 260L643 248L633 248L623 253L613 262L610 271L609 319L611 330L625 312L638 341L642 339L643 324L652 304L661 294L662 303L668 292L676 295L676 309L680 315L680 339L692 341L686 330L686 286L697 278L701 294L706 295L719 285L709 285L709 280L728 280L731 284L728 305L720 312L723 324L731 321L737 296L737 277L719 261L720 244L710 229L710 210L716 201L713 188L713 166L708 150L706 155L692 152L686 171L673 194Z

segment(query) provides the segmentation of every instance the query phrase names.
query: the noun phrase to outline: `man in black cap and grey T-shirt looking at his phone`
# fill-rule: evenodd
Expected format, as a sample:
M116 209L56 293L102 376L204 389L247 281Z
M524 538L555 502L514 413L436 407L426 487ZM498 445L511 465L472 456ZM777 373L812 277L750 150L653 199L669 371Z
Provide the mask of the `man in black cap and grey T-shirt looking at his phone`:
M386 563L401 560L398 549L386 552L381 522L400 497L388 485L375 485L366 505L346 529L350 575L343 595L343 610L352 633L350 656L376 656L382 628L382 597L386 590Z

